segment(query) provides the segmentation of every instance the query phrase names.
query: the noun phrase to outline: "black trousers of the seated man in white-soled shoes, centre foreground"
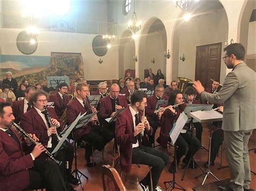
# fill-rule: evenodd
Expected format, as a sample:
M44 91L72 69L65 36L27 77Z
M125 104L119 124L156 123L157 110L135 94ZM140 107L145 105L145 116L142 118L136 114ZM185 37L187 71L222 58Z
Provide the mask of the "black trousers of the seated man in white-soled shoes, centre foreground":
M142 146L132 148L132 164L143 164L152 167L153 188L157 187L158 180L164 167L170 161L169 155L156 148ZM142 180L143 185L150 185L150 172Z

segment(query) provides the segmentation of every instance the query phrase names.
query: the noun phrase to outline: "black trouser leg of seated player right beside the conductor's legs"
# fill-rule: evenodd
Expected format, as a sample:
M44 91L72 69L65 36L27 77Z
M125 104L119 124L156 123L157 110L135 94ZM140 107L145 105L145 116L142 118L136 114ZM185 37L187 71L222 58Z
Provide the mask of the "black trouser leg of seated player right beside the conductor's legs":
M223 143L223 141L224 141L224 131L222 129L213 131L212 143L211 143L211 156L210 156L211 162L214 162L219 152L219 147Z

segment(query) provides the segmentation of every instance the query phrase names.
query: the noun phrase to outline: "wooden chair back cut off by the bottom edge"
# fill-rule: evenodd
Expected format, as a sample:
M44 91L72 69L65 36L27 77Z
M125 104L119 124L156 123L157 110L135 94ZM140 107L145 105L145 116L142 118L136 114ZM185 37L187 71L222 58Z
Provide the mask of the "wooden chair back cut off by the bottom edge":
M102 165L102 181L104 191L126 191L118 172L110 165Z

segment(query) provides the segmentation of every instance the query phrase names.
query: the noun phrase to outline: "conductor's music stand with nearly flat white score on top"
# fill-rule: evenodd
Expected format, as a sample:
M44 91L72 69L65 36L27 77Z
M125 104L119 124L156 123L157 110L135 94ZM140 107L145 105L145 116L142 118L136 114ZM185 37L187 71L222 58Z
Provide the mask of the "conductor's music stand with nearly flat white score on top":
M209 133L209 145L208 145L208 168L206 169L206 173L200 174L204 175L205 178L202 182L202 185L204 185L205 180L209 174L211 174L216 180L220 181L212 172L210 169L210 157L211 157L211 143L212 143L212 127L211 127L211 122L217 122L217 121L222 121L223 115L220 114L218 111L195 111L195 112L190 112L189 114L191 117L195 118L197 121L200 123L208 122L210 126L210 133ZM196 176L196 179L199 177Z

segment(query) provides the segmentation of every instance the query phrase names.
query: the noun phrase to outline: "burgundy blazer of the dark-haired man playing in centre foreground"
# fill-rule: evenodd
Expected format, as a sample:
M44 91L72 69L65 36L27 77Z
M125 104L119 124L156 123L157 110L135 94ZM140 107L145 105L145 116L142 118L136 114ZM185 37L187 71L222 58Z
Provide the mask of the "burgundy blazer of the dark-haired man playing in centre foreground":
M142 117L142 112L139 112L139 118ZM144 131L144 134L152 135L153 129ZM120 166L122 171L130 172L132 165L132 144L137 142L136 137L133 136L134 126L132 121L132 114L129 108L126 108L117 116L116 121L116 142L120 145ZM146 136L144 136L146 138ZM145 139L143 139L145 144Z

